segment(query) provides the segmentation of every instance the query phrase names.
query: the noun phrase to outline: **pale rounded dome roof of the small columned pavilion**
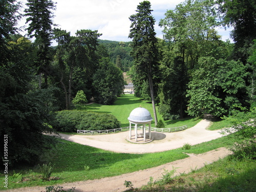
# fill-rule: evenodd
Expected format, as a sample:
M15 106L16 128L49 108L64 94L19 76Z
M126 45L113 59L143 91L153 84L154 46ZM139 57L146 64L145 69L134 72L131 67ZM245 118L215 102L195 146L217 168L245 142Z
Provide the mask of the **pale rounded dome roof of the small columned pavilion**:
M128 117L128 120L131 122L135 123L147 123L153 120L151 117L151 114L149 111L147 111L145 108L136 108L134 109L131 113L130 116Z

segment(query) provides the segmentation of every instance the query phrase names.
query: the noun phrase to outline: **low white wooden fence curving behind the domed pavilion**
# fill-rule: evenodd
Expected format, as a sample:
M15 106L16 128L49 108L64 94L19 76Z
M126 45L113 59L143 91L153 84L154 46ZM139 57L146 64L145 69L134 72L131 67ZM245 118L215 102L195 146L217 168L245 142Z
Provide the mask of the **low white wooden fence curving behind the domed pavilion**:
M132 126L133 128L135 126ZM138 126L138 129L142 129L143 126ZM88 130L77 130L77 133L84 134L84 135L101 135L101 134L111 134L111 133L119 133L125 132L130 129L129 126L121 127L113 130L100 130L100 131L88 131ZM162 132L162 133L170 133L170 132L177 132L187 129L187 125L172 127L172 128L156 128L151 127L151 131L155 132ZM148 126L146 126L146 130L148 130Z

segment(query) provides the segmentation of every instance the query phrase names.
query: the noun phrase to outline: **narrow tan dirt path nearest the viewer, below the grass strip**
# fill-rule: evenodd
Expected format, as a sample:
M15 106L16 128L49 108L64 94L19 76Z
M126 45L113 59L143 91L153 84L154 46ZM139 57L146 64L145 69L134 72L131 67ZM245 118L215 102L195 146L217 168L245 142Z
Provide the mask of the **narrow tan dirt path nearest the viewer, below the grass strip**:
M123 185L124 181L131 181L134 187L141 187L146 185L150 181L150 177L153 177L154 181L158 180L164 174L164 170L176 169L175 176L180 173L189 173L191 170L199 169L205 164L217 161L219 158L231 154L226 148L221 147L217 150L213 150L204 154L194 155L188 154L189 157L174 162L170 162L164 165L160 165L145 170L138 170L137 172L123 174L115 177L107 177L102 179L79 181L73 183L63 183L65 189L76 187L76 192L108 192L108 191L124 191L127 188ZM7 191L12 192L39 192L45 190L45 187L26 187L18 188Z

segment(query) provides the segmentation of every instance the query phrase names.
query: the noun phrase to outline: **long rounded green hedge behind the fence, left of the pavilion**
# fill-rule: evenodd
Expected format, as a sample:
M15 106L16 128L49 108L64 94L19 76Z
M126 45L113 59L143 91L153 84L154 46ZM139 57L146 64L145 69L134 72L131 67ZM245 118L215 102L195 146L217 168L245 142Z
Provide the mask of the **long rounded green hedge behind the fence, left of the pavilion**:
M60 132L111 130L121 126L117 118L111 114L76 110L55 112L50 124L53 129Z

